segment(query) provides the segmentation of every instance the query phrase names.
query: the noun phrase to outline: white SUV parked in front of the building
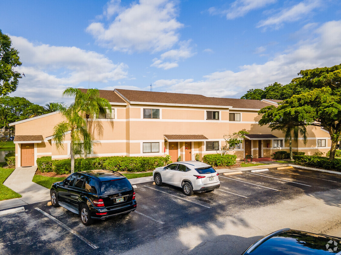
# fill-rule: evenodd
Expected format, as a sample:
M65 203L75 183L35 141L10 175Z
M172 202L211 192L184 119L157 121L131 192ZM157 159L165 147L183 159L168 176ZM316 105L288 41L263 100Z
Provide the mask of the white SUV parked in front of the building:
M158 167L153 171L155 184L167 183L181 187L185 195L195 192L211 192L220 187L219 173L210 165L198 161L186 161Z

